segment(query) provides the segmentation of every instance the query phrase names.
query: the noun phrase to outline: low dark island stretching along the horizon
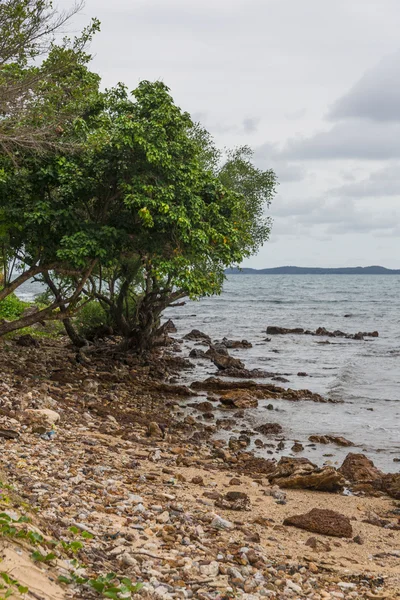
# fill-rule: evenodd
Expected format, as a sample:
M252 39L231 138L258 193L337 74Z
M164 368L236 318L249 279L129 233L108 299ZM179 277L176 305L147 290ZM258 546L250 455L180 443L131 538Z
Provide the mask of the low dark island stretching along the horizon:
M273 269L226 269L226 275L400 275L400 269L385 267L275 267Z

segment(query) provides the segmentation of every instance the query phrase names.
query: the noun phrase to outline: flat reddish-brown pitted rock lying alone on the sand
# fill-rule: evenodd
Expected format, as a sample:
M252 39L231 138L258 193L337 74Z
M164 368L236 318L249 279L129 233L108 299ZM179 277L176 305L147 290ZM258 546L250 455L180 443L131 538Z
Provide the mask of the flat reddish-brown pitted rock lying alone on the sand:
M283 521L284 525L292 525L321 535L334 537L352 537L353 528L350 519L328 509L313 508L303 515L294 515Z

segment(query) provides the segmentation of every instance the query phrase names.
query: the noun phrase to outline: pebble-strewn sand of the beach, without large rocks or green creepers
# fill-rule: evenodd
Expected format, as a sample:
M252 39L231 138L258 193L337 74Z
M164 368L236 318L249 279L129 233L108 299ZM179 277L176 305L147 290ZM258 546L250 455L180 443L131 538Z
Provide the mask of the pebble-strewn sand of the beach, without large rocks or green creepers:
M71 526L90 532L77 555L88 576L142 579L144 598L222 599L231 590L248 600L394 599L400 592L395 500L284 489L262 472L267 461L247 450L224 457L206 421L179 416L185 387L165 383L179 376L176 354L145 366L95 357L83 365L62 340L38 348L3 341L0 354L0 427L21 432L1 442L1 468L21 498L13 510L27 503L53 538L69 539ZM23 415L43 409L60 417L49 440ZM229 492L248 504L232 510ZM284 524L310 508L347 517L351 537ZM53 562L39 570L54 587L71 567L62 556ZM74 583L57 585L59 596L41 594L100 597Z

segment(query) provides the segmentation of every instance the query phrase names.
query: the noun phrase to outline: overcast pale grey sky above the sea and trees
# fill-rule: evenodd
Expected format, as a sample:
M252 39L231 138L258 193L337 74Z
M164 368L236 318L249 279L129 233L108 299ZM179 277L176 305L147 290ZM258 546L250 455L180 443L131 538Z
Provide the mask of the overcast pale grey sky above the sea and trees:
M400 268L399 0L86 0L72 31L92 16L104 86L162 80L274 169L270 240L244 266Z

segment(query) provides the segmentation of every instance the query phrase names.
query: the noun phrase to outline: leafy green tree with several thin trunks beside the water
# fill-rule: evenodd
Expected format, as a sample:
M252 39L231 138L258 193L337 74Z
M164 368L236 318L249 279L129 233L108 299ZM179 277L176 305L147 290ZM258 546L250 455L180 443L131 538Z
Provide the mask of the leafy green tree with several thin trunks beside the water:
M210 136L162 83L142 82L134 96L123 87L107 95L75 193L100 201L118 232L86 295L101 302L124 347L143 351L171 302L219 293L224 269L267 239L275 176L254 167L246 147L221 166Z

